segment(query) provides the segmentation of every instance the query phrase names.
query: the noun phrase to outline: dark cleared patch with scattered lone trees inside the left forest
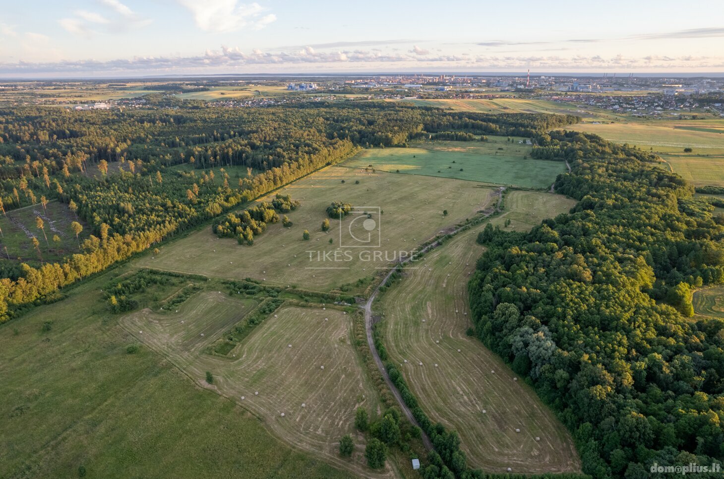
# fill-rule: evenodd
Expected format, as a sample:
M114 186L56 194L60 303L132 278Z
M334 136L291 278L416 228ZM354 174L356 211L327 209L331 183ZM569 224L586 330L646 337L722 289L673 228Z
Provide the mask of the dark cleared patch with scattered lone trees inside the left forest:
M45 234L35 224L35 217L40 216L45 223ZM79 251L78 241L70 228L73 221L80 222L65 204L52 201L46 204L35 204L32 207L14 209L7 214L0 214L0 228L3 236L0 238L0 258L28 262L31 265L40 265L38 251L35 251L31 243L31 236L38 238L43 261L61 262L68 254ZM90 230L84 225L83 233L80 233L80 241L88 238ZM53 241L53 236L58 236L59 243ZM5 251L7 248L7 253Z

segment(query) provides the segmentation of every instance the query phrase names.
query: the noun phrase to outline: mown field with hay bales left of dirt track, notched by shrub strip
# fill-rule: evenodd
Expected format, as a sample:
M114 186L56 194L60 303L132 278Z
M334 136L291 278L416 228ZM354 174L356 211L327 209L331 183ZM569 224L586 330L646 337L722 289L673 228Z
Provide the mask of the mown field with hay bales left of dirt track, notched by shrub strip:
M146 309L123 317L121 323L198 386L250 410L285 442L353 472L390 475L390 469L376 474L366 468L360 438L351 462L339 457L339 438L355 432L355 409L380 409L351 343L348 315L337 309L282 307L228 357L205 354L253 304L251 299L206 291L172 312ZM214 376L211 385L206 371Z

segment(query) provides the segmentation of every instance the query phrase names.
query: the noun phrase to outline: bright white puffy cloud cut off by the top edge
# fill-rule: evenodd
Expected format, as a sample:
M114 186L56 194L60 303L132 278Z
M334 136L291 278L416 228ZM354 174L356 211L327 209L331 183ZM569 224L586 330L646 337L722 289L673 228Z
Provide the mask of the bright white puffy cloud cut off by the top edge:
M114 1L114 0L108 0ZM277 20L258 3L240 4L237 0L179 0L190 10L198 28L207 32L223 33L251 28L259 30Z

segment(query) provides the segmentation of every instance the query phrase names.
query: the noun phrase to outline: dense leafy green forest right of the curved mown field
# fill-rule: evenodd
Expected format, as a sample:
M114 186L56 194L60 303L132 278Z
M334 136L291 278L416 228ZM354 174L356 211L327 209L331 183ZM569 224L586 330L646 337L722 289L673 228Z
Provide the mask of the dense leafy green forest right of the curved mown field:
M692 319L724 283L724 216L653 154L576 132L533 156L567 159L578 199L530 233L488 226L469 284L475 332L573 431L594 478L724 457L724 322Z

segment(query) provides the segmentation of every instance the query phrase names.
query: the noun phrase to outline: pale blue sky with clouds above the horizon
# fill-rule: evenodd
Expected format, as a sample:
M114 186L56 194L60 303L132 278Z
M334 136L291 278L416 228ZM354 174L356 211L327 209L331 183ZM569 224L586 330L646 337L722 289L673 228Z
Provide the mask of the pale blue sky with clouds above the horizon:
M724 1L0 0L0 78L724 72Z

